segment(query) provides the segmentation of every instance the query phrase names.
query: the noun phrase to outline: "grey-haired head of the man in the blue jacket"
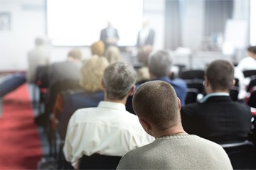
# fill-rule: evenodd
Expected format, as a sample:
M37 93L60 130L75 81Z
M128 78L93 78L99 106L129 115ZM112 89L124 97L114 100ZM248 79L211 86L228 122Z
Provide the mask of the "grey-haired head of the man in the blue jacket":
M151 52L149 55L149 72L155 77L169 76L172 57L166 50Z

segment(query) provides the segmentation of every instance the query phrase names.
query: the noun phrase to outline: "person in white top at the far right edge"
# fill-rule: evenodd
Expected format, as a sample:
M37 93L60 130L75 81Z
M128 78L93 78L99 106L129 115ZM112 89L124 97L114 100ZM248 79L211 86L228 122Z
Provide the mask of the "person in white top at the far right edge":
M241 71L256 69L256 46L247 47L247 57L240 60L237 68Z

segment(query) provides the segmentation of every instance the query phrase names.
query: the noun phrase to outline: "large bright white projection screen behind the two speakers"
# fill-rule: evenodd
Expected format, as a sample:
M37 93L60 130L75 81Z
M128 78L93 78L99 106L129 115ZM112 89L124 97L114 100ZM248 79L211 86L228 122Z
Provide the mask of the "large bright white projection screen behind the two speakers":
M48 0L47 34L53 45L92 45L111 21L117 45L134 46L142 16L143 0Z

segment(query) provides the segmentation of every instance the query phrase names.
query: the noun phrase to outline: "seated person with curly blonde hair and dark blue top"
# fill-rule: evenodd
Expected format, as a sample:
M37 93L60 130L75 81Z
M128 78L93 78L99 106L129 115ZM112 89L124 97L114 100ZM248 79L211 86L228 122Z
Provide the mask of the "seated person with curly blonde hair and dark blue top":
M82 64L80 91L68 96L60 115L58 132L62 140L65 139L66 130L68 128L68 120L78 108L96 107L100 101L104 100L104 91L101 85L105 68L108 66L105 57L90 57Z

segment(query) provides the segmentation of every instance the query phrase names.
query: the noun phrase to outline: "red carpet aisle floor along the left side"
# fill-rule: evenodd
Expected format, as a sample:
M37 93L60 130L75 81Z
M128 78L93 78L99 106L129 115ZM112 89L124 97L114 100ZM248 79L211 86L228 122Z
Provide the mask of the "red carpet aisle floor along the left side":
M36 169L43 153L33 117L26 84L4 97L0 118L0 169Z

